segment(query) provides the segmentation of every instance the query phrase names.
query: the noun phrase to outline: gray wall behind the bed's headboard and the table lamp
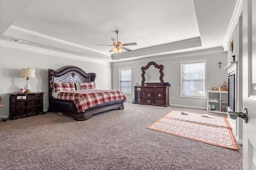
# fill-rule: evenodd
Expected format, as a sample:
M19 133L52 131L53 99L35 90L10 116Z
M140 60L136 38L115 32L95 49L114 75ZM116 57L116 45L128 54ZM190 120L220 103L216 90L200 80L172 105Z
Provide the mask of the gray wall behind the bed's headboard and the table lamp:
M30 78L31 91L44 91L44 109L48 109L48 69L60 69L66 65L76 65L86 72L96 73L96 89L112 89L111 65L78 61L52 55L0 47L0 95L3 97L0 117L9 115L8 93L25 87L26 78L20 77L21 68L36 70L35 78Z

